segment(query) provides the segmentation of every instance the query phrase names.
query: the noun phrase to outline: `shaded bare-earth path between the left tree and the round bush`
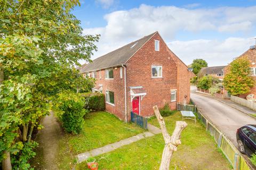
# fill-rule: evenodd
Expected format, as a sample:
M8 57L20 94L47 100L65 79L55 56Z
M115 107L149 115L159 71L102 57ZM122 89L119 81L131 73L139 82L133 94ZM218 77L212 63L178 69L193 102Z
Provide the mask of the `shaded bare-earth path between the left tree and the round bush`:
M55 155L59 148L62 130L53 112L46 116L42 122L44 128L37 134L36 141L39 143L38 150L43 154L43 167L36 169L58 169L55 163Z

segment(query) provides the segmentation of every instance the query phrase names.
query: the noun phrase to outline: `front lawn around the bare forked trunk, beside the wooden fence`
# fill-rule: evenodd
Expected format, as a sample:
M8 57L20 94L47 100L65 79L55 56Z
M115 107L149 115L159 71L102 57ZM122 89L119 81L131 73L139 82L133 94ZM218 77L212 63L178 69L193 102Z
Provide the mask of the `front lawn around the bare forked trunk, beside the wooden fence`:
M172 133L175 121L182 120L180 113L164 117L167 130ZM197 122L186 121L188 126L182 131L178 151L174 152L170 169L230 169L230 165L205 128ZM156 119L149 123L158 126ZM96 157L99 169L158 169L161 163L164 140L162 134L142 139L116 149L108 154ZM76 169L87 169L86 163Z

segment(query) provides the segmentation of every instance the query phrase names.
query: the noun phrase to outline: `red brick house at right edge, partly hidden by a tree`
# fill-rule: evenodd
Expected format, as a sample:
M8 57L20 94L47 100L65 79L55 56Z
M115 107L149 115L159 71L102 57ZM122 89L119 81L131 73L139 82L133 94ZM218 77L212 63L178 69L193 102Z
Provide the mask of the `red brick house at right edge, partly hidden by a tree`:
M256 46L251 46L250 49L248 49L246 52L244 52L242 55L238 56L237 58L247 58L250 61L250 67L251 67L251 77L254 81L256 81ZM235 60L237 60L237 58ZM230 63L231 64L231 63ZM228 64L224 68L224 76L229 72L230 64ZM241 98L246 98L247 95L254 94L256 95L256 84L251 88L251 91L248 94L239 95ZM230 98L230 95L227 90L224 89L223 92L223 98Z

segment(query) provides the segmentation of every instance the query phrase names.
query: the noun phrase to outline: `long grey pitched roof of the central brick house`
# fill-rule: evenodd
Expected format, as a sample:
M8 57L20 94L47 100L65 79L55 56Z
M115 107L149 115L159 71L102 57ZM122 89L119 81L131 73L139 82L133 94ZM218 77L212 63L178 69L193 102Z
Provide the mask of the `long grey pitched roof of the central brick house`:
M82 69L82 73L100 70L111 66L117 66L124 64L134 53L136 53L151 37L155 35L156 32L151 33L141 39L133 41L121 48L114 50L108 54L105 54L99 58L93 60L92 63L87 64Z

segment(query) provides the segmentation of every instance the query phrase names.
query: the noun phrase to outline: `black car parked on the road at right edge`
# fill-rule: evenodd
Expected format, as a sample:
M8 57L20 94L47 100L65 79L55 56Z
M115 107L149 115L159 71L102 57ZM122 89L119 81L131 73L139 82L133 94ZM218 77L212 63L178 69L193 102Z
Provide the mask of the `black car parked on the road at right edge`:
M256 151L256 125L245 125L237 129L236 140L242 154L251 156Z

